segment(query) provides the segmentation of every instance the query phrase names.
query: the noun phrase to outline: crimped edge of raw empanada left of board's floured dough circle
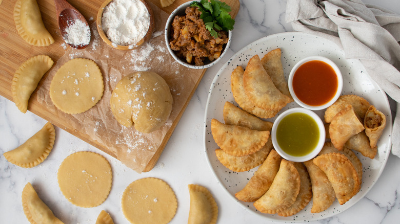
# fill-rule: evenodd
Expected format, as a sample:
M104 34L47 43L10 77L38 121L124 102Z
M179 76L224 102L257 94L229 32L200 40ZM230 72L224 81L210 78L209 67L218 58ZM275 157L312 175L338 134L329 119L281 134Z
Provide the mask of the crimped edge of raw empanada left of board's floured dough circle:
M21 64L21 66L19 66L19 68L15 71L14 73L14 77L12 78L12 82L11 82L11 95L12 95L12 99L15 102L16 107L21 110L22 113L26 113L27 109L28 109L28 102L22 102L17 95L18 92L18 83L19 83L19 79L23 76L22 74L24 73L24 70L27 68L28 65L33 64L33 63L42 63L44 66L46 67L46 72L50 70L51 66L53 66L54 61L47 55L37 55L34 57L29 58L28 60L26 60L24 63ZM46 74L43 73L43 75ZM42 75L42 77L43 77ZM39 81L42 79L42 77L40 79L37 80L36 86L39 83ZM36 88L35 86L35 88ZM32 93L30 93L32 94Z

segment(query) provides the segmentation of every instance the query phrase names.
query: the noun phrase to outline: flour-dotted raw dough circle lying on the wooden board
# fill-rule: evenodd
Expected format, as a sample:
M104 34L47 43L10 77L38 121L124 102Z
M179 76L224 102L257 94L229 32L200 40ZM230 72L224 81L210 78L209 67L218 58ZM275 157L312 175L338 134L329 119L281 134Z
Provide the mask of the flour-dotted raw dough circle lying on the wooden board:
M67 114L79 114L102 98L104 83L97 64L86 58L74 58L63 64L50 84L50 98Z

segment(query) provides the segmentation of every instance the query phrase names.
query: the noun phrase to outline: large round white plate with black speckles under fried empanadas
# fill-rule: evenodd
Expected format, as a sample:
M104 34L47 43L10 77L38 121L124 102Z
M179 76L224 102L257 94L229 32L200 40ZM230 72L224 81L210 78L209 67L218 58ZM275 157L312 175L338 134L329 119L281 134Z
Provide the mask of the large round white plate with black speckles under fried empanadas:
M244 203L236 199L234 194L241 190L253 173L258 167L247 172L236 173L227 169L224 165L219 163L215 156L214 150L218 148L211 135L211 119L215 118L223 122L223 108L226 101L232 102L235 105L231 86L230 76L231 72L237 65L242 65L244 68L248 60L255 54L260 57L264 56L267 52L276 49L282 49L282 63L286 79L289 76L290 70L293 65L302 58L319 55L331 59L335 62L343 74L344 86L342 94L355 94L367 99L371 104L382 111L386 117L386 128L378 142L378 153L375 159L371 160L363 155L356 153L358 158L363 163L363 183L361 190L353 196L345 205L339 205L336 200L333 205L324 212L312 214L310 212L312 200L308 206L295 214L294 216L281 217L277 214L263 214L258 212L252 203ZM280 113L288 108L297 107L295 103L288 104ZM316 113L323 118L323 110L316 111ZM268 119L273 121L274 119ZM303 222L328 218L330 216L339 214L346 209L350 208L357 201L363 198L367 192L372 188L374 183L381 175L386 161L388 159L391 139L390 133L392 130L392 117L390 113L389 102L385 92L366 74L365 69L361 62L353 59L346 59L344 52L339 50L335 43L326 40L322 37L317 37L310 34L299 32L287 32L270 35L261 38L247 47L237 52L216 74L211 87L207 100L206 114L205 114L205 150L206 157L210 164L218 183L226 189L232 200L253 215L265 217L265 219L274 221L287 221L287 222Z

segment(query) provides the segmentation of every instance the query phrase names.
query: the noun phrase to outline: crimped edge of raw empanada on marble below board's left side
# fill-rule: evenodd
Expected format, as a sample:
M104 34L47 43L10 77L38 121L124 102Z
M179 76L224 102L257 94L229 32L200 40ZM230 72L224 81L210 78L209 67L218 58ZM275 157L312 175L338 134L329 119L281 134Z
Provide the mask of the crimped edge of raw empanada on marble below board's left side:
M55 130L54 130L54 126L50 122L47 122L45 124L45 126L43 126L43 128L41 130L39 130L39 131L37 131L35 133L35 135L40 131L47 131L48 132L49 144L46 147L43 148L43 153L40 156L38 156L37 158L35 158L35 160L33 162L21 163L21 162L17 161L16 159L14 159L9 154L9 152L11 152L12 150L3 153L4 157L6 158L6 160L8 160L8 162L10 162L10 163L12 163L14 165L17 165L17 166L20 166L20 167L23 167L23 168L32 168L34 166L37 166L38 164L41 164L47 158L47 156L50 154L51 150L53 149L54 141L55 141ZM34 138L35 135L33 135L31 138ZM27 143L31 138L29 138L25 143ZM22 144L22 145L24 145L24 144ZM15 148L13 150L18 149L21 146L18 146L17 148Z

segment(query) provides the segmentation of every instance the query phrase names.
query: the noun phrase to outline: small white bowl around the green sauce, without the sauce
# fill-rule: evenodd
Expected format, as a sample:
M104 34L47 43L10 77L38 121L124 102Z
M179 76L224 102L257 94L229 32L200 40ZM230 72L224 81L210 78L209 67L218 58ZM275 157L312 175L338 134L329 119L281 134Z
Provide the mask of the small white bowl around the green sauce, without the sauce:
M294 155L290 155L290 154L286 153L282 149L282 147L279 146L278 141L276 139L277 138L276 132L277 132L277 127L278 127L279 123L282 121L283 118L285 118L286 116L288 116L290 114L294 114L294 113L303 113L303 114L310 116L316 122L318 130L319 130L318 143L308 154L303 155L303 156L294 156ZM293 161L293 162L304 162L304 161L311 160L319 153L319 151L321 151L322 147L325 144L325 127L324 127L324 123L322 122L321 118L319 118L318 115L316 115L313 111L306 109L306 108L302 108L302 107L295 107L295 108L291 108L291 109L284 111L284 113L282 113L281 115L279 115L276 118L276 120L274 121L274 123L272 125L271 138L272 138L272 144L274 146L274 149L284 159L286 159L288 161Z

